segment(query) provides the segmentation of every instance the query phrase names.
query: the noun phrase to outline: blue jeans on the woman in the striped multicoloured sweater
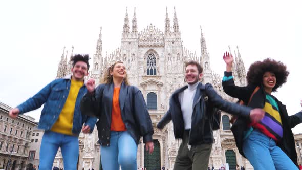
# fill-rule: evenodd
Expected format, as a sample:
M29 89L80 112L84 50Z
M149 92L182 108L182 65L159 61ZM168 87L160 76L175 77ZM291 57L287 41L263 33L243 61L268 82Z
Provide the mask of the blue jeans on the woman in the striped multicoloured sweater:
M255 170L298 169L272 138L257 129L244 140L243 153Z

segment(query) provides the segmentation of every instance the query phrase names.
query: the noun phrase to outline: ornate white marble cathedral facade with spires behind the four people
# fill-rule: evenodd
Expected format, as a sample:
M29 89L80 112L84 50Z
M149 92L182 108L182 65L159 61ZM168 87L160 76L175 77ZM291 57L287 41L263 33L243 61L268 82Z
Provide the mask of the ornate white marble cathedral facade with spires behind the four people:
M156 124L169 109L170 95L186 84L184 80L184 65L186 61L196 60L201 63L204 69L202 82L211 83L224 99L235 101L235 99L223 92L221 77L211 69L210 56L202 30L200 34L201 53L197 55L196 52L193 53L182 45L175 9L171 23L168 12L166 12L164 30L160 30L150 24L138 31L135 9L131 26L128 12L126 11L121 45L105 56L102 55L102 29L100 28L92 69L88 77L94 78L96 82L99 82L104 71L115 61L122 61L126 66L130 83L133 86L137 86L144 95L154 127L154 153L147 154L142 139L138 145L138 167L147 168L148 170L161 169L163 166L165 169L172 169L174 166L181 140L174 138L172 122L162 130L157 129ZM239 50L232 52L232 54L235 62L233 66L235 83L238 86L244 86L246 84L246 71L241 55ZM67 52L65 53L64 48L59 62L57 78L70 74L71 67L68 54ZM236 164L244 166L245 169L253 169L248 160L239 154L235 146L235 140L230 131L230 115L222 113L221 120L220 129L213 132L214 144L209 166L219 169L222 164L228 163L230 169L234 169ZM100 145L97 141L98 132L96 128L92 134L80 134L78 169L101 168ZM63 167L62 163L61 153L58 152L54 165Z

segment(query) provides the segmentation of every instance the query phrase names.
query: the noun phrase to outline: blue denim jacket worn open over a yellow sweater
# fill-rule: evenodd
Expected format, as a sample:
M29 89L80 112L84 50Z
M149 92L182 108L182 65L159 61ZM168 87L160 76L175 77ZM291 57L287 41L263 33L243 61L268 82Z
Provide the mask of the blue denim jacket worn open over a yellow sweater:
M38 109L42 104L45 104L41 112L38 128L50 131L54 123L59 118L62 108L66 102L70 90L70 84L71 75L52 81L33 97L18 105L17 108L20 110L19 114ZM75 135L80 134L83 123L90 127L90 133L92 133L97 120L95 117L84 115L80 111L80 101L86 92L87 89L84 84L78 92L75 103L72 124L72 133Z

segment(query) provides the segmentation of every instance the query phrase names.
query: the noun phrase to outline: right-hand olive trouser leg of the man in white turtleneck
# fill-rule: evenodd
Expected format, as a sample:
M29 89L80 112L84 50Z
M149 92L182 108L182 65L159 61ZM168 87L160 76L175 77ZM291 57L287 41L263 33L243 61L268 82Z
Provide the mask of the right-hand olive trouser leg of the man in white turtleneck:
M192 170L207 169L210 161L212 144L199 144L192 146Z

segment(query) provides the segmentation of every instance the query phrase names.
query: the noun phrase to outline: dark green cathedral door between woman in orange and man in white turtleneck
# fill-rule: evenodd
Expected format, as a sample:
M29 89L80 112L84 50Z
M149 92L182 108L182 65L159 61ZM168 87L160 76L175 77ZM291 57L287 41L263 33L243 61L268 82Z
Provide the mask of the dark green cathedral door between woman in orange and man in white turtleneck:
M148 151L145 150L144 154L144 168L147 170L158 170L161 169L160 165L160 145L158 140L153 140L154 143L154 151L152 154L149 154Z

